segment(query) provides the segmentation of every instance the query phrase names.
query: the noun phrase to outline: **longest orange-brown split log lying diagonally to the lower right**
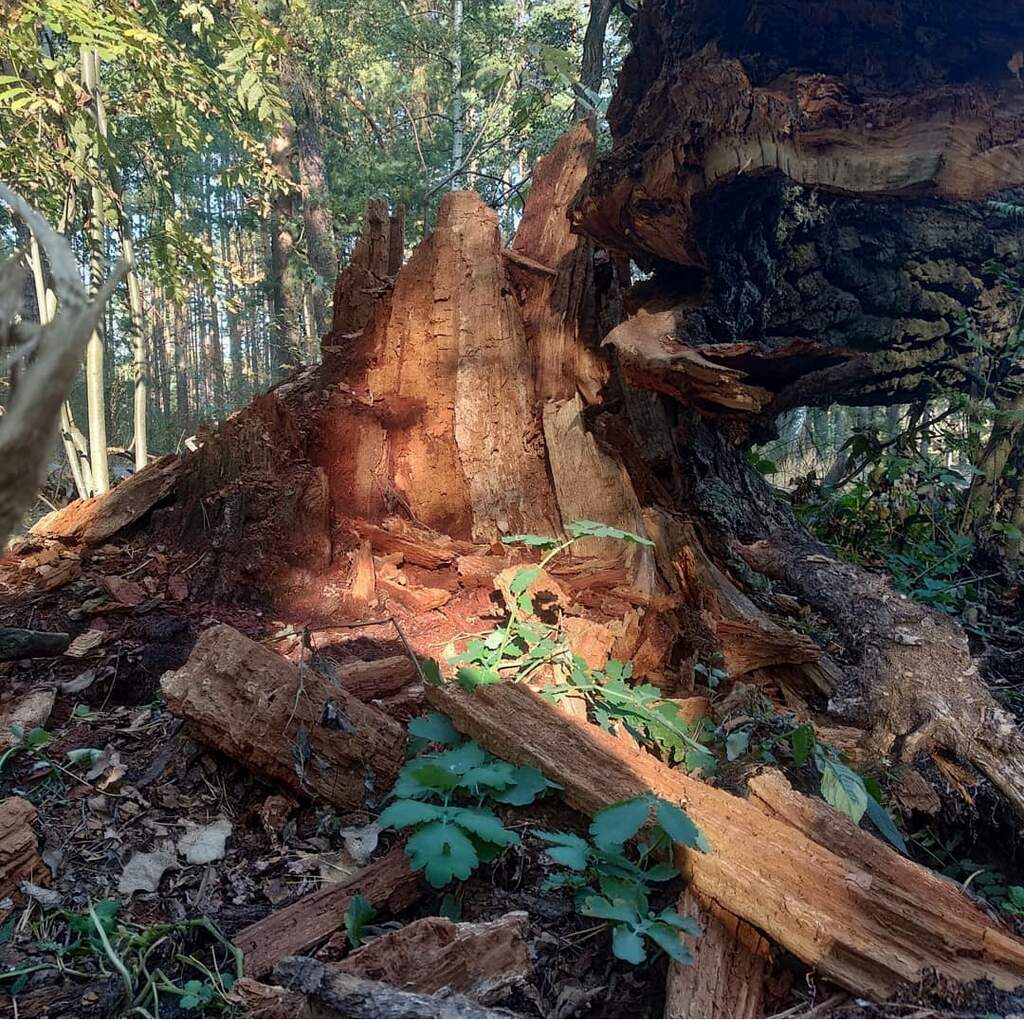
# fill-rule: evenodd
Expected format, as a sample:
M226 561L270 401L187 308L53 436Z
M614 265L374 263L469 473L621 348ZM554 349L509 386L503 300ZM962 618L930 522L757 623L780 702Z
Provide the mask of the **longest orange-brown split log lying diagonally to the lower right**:
M907 861L899 870L876 869L866 858L842 856L817 842L815 830L794 827L756 802L631 751L525 686L472 694L430 686L427 698L493 754L560 782L569 804L588 814L645 793L684 806L712 847L708 854L679 851L694 892L859 995L885 1001L929 972L950 986L1024 985L1024 943L966 896L951 891L937 899L942 880L924 867Z

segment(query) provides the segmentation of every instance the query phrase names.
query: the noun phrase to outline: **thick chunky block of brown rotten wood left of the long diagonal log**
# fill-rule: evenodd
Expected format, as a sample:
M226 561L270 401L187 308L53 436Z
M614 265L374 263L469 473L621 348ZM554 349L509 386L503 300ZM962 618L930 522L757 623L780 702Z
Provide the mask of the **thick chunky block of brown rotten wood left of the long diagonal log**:
M225 625L205 631L161 689L204 740L337 807L376 806L406 759L406 732L393 719Z

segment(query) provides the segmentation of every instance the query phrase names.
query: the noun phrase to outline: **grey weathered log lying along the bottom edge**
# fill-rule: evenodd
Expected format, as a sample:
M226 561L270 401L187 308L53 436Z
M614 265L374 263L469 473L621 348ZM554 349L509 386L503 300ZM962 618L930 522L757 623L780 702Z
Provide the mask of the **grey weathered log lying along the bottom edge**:
M506 1010L487 1010L462 995L422 995L399 991L380 981L345 974L308 957L283 960L273 972L274 979L292 991L301 991L315 1000L326 1012L316 1016L334 1017L514 1017Z

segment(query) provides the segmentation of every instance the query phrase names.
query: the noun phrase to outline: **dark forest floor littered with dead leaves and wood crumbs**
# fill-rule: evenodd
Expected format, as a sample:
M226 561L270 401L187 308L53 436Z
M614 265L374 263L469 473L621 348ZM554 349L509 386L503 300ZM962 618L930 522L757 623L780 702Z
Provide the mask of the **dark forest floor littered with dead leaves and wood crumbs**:
M114 961L127 952L140 962L129 974L139 1000L159 968L163 1015L244 1015L251 1003L242 986L232 987L229 949L187 923L205 917L230 939L322 884L350 879L368 851L378 842L385 848L393 837L378 833L365 811L300 802L198 742L163 706L159 680L184 664L199 633L213 624L229 624L294 658L304 653L297 632L316 621L205 599L202 555L137 541L77 553L48 542L15 548L0 560L0 626L66 631L74 640L63 655L0 665L0 725L8 748L0 795L35 806L40 851L52 876L47 888L30 889L0 927L0 969L8 975L0 1011L117 1015L126 978ZM444 570L425 571L420 581L426 580L458 588ZM418 648L436 653L494 617L485 590L454 591L443 611L406 612L404 632ZM335 660L401 650L387 625L308 637ZM997 689L1019 707L1022 678L1013 649L996 648L991 661L1001 670ZM390 711L408 720L420 709L415 698L398 698ZM17 745L7 733L18 721L38 736ZM912 835L915 856L931 857L995 910L1009 895L999 867L1019 863L1005 814L976 777L937 778L948 796ZM741 785L742 763L724 768L718 781ZM457 898L427 892L402 913L373 919L368 935L440 912L488 921L526 911L534 975L500 1005L553 1017L660 1016L665 958L641 967L614 959L605 926L581 917L569 891L544 888L551 862L530 830L585 834L587 819L555 799L503 813L522 836L520 846L461 884ZM197 841L198 855L189 852ZM977 863L985 854L987 862ZM670 893L676 894L667 890L659 905ZM119 931L134 932L135 941L110 946L93 937L88 911L95 904L106 904L99 909L112 917L116 910L127 926ZM345 951L344 938L335 937L318 954L337 960ZM766 990L770 1015L780 1017L953 1015L913 1003L877 1007L855 1000L784 953ZM153 1012L152 1002L143 1006Z

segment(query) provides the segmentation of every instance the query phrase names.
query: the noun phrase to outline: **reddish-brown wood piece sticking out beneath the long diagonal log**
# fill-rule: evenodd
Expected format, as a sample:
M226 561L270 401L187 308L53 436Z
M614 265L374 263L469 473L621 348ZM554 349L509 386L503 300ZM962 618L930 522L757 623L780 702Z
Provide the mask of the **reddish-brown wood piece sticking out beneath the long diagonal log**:
M703 935L683 938L693 953L692 966L669 965L666 1017L764 1016L771 950L764 935L692 889L683 890L679 912L696 918Z

